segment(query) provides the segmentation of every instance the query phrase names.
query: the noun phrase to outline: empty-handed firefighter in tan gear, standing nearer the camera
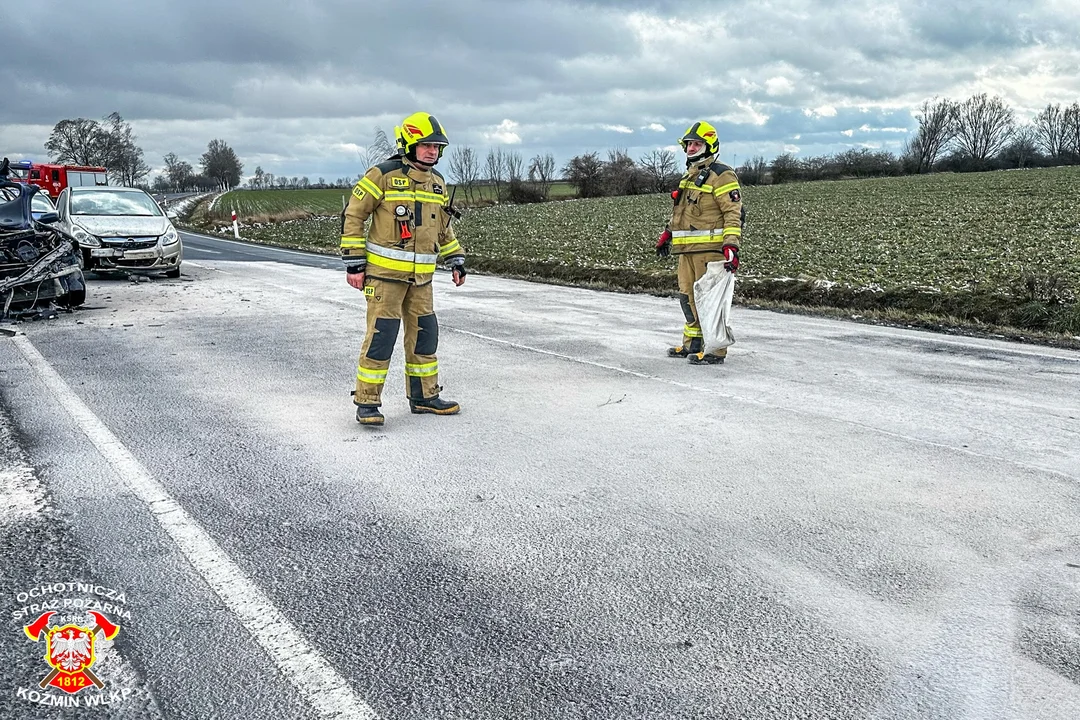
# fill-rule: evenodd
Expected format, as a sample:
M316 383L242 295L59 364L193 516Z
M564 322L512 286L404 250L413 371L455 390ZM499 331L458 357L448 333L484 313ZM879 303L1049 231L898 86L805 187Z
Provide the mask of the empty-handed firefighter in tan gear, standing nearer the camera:
M432 307L437 261L465 281L465 257L450 227L446 180L434 169L449 144L427 112L394 130L397 154L367 171L342 213L341 259L349 285L364 291L367 328L356 368L356 421L381 425L382 385L402 325L405 395L416 413L456 415L457 403L440 397L438 322ZM364 227L370 218L370 227Z

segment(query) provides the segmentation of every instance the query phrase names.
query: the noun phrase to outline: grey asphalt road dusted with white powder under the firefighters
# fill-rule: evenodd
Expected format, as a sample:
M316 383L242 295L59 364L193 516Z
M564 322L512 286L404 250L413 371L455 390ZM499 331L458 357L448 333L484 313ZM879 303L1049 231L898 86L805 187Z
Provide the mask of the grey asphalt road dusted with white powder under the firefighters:
M463 410L399 348L370 430L337 261L184 240L0 337L0 717L80 579L103 717L1080 717L1080 354L737 308L694 367L674 299L440 273Z

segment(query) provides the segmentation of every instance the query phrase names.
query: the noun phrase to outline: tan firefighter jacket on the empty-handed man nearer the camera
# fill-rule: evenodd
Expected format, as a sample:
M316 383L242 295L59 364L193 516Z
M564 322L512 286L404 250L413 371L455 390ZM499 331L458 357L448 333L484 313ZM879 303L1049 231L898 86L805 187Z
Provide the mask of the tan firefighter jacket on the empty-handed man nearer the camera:
M448 202L446 181L435 169L422 171L404 158L372 167L342 213L341 260L369 277L430 283L438 260L464 262Z

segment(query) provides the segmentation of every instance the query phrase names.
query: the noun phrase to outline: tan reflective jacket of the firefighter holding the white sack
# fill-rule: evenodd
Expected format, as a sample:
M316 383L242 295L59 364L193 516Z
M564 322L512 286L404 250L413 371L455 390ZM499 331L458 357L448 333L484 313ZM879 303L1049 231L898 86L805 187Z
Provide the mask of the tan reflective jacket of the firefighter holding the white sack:
M739 178L731 167L714 161L710 155L690 165L673 193L673 254L739 247L744 219Z

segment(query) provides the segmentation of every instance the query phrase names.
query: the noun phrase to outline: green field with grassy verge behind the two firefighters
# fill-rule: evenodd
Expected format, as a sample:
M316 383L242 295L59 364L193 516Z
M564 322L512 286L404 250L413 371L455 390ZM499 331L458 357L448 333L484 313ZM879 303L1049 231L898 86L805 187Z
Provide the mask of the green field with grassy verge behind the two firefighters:
M1080 167L747 187L743 198L738 302L1080 336ZM653 254L670 209L663 194L567 200L478 207L455 225L483 272L672 294L675 262ZM336 254L339 228L315 217L242 234Z

